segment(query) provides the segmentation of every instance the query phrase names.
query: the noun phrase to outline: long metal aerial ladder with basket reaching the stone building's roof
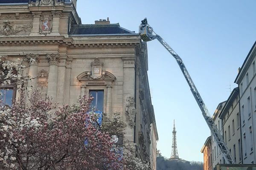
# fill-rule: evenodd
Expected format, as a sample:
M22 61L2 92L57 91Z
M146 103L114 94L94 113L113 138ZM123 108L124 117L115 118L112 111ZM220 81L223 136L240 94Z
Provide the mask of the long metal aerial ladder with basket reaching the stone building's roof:
M140 33L141 39L145 42L157 39L166 48L166 50L169 51L169 53L171 53L172 56L176 59L186 81L189 84L190 90L191 90L193 96L195 97L195 100L198 103L200 110L202 111L204 119L207 122L207 125L209 126L211 133L223 154L225 161L227 162L227 164L236 164L236 161L233 159L230 151L227 148L227 145L224 142L223 136L221 135L221 133L218 130L215 123L213 122L213 119L212 119L206 105L204 104L204 101L201 98L198 90L196 89L195 84L192 81L192 79L189 75L189 72L187 71L180 56L163 40L162 37L160 37L153 31L153 28L148 25L147 18L145 18L144 20L141 21L139 33Z

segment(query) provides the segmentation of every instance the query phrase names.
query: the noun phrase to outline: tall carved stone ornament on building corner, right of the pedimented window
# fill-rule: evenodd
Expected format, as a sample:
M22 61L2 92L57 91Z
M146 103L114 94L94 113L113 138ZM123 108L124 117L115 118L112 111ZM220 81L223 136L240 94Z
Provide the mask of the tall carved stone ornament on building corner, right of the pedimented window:
M128 124L133 128L135 126L134 119L136 115L136 108L134 103L134 97L128 96L126 98L125 116Z

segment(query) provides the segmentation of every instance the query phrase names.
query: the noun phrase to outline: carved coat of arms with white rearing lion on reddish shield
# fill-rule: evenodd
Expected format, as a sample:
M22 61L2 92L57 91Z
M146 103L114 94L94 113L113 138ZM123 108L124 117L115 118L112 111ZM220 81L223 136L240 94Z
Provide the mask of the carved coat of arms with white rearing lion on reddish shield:
M40 26L39 26L40 34L50 34L52 31L52 15L41 16L40 18Z

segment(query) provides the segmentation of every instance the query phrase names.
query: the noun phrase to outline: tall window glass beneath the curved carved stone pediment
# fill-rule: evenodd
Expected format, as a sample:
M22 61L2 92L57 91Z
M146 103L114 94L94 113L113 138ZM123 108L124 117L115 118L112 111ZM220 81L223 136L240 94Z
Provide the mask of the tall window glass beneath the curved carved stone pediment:
M95 109L95 111L103 112L104 91L90 91L90 95L94 97L91 107Z

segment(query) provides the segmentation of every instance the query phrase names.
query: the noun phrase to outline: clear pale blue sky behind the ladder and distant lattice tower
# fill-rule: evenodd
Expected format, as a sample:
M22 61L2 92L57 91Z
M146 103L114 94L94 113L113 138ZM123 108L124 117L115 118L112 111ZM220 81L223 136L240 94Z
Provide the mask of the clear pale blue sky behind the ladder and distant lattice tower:
M180 55L209 112L227 100L234 80L256 40L255 0L78 0L83 24L107 19L138 32L145 17ZM157 40L148 42L157 148L172 151L173 119L180 158L203 161L200 150L210 135L201 111L175 59Z

